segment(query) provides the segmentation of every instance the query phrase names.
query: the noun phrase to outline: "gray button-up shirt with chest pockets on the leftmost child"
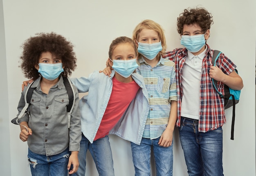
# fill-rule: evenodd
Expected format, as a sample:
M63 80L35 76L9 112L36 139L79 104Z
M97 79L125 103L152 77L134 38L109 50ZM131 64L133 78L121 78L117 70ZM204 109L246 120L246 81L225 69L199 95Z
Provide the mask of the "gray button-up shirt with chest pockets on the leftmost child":
M70 151L79 151L81 140L81 118L79 109L79 95L76 87L75 104L71 114L70 129L67 127L67 105L69 98L63 83L63 78L50 90L48 95L40 87L39 77L31 87L34 89L29 107L29 114L19 119L28 122L32 135L28 138L29 149L36 154L46 156L56 155L69 147ZM18 114L25 106L25 91L22 91L18 104Z

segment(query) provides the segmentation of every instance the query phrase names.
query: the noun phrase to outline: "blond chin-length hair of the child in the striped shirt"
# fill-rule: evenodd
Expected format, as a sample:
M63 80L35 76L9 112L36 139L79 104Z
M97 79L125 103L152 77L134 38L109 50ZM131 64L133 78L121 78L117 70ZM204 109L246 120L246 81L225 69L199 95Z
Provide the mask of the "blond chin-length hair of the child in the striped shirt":
M137 40L139 38L139 33L141 32L142 29L152 29L154 31L156 31L159 35L159 38L161 40L162 43L162 51L160 51L157 54L157 59L160 59L160 54L163 55L166 51L166 40L165 40L165 36L164 36L164 29L155 21L153 20L144 20L142 22L140 22L135 29L132 32L132 40L135 42L135 40ZM141 54L138 53L138 58L141 58Z

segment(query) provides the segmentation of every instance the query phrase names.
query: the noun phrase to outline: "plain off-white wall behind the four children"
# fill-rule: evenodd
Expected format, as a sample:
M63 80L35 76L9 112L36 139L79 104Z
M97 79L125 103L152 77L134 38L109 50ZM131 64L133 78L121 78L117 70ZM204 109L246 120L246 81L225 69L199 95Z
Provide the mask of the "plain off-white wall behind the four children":
M205 7L213 15L211 37L207 41L210 47L222 51L234 61L244 82L240 102L236 105L235 140L230 140L231 109L226 111L224 174L255 176L255 0L1 0L0 175L30 175L26 161L27 144L19 139L19 127L10 123L17 114L22 81L27 80L18 68L22 51L20 45L25 39L38 32L62 34L75 45L78 67L72 77L88 76L92 71L105 67L111 41L118 36L131 37L132 30L144 19L155 20L162 25L168 50L180 47L177 16L183 9L197 5ZM173 175L184 176L187 175L186 165L177 128L174 135ZM116 176L133 175L130 143L116 136L111 136L110 143ZM87 159L86 176L97 176L91 156Z

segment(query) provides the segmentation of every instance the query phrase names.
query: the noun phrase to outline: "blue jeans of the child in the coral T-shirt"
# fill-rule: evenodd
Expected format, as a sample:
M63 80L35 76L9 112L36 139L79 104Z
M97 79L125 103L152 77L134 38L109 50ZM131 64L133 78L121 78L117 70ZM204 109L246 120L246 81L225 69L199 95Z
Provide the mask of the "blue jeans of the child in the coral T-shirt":
M84 176L86 166L86 152L89 149L94 163L96 165L99 176L114 176L114 165L112 159L112 151L108 140L108 135L104 138L93 141L91 144L89 140L83 135L80 142L80 151L78 153L79 168L72 176Z

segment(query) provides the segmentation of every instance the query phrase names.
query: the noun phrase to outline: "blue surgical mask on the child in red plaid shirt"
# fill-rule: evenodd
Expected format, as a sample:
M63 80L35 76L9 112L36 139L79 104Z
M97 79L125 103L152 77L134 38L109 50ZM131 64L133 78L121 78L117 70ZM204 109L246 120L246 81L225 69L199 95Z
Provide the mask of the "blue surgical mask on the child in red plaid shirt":
M204 34L195 36L181 36L180 44L191 53L196 53L205 45Z

